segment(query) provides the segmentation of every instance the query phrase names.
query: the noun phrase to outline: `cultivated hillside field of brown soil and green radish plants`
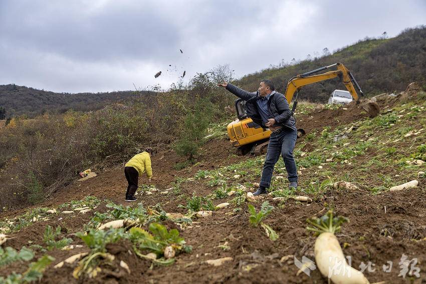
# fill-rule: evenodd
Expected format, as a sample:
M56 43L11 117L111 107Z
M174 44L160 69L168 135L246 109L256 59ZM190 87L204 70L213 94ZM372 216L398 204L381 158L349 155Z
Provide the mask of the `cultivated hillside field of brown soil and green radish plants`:
M180 171L173 169L179 161L174 153L153 156L156 179L147 184L144 177L140 178L140 205L124 202L126 182L123 169L117 168L63 188L41 205L46 208L33 207L25 215L24 211L3 213L0 227L15 237L4 246L21 249L31 245L36 258L44 254L54 256L52 265L44 272L43 283L327 283L318 269L310 276L305 273L296 276L299 269L294 257L314 260L315 237L306 231L305 220L333 208L336 214L350 219L342 225L337 238L345 255L351 257L351 265L357 269L362 263L375 265L375 270L364 271L371 283L383 280L420 283L426 280L426 176L419 172L425 171L426 163L416 161L426 160L425 99L424 92L383 98L379 101L382 114L373 119L367 118L355 104L347 109L301 106L298 127L310 128L310 131L298 140L295 149L299 188L288 189L284 163L280 159L270 188L273 195L252 203L258 211L265 200L274 205L264 222L278 233L275 241L266 236L263 228L250 224L249 202L245 200L246 192L252 191L254 182L260 179L265 157L236 156L229 141L215 139L203 147L197 164ZM412 179L418 180L418 187L388 191L390 186ZM351 182L358 188L329 186L330 182L339 180ZM234 195L228 196L231 191L235 191ZM293 199L296 195L309 196L312 202L297 202ZM204 208L208 201L214 205L229 202L230 206L215 210L207 218L195 218L190 208L196 206L193 201L197 196L203 197ZM283 198L274 200L273 197ZM111 201L115 205L106 206ZM85 214L62 213L81 206L91 210ZM137 211L140 206L147 210ZM52 208L58 212L47 213ZM165 217L165 212L171 214ZM149 259L135 254L131 239L126 238L127 232L106 244L105 251L114 255L114 259L99 258L100 270L93 278L85 274L74 278L72 273L78 263L53 268L73 254L91 251L76 232L120 216L142 218L144 222L140 226L146 230L153 219L168 229L177 229L186 244L192 246L192 252L177 254L171 265L151 266ZM54 228L60 225L56 239L68 237L74 248L46 251L48 225ZM111 230L108 234L114 233L118 231ZM398 274L402 271L404 255L413 266L408 266L402 277ZM228 261L221 266L206 262L222 257L228 257ZM120 261L128 264L130 272L120 266ZM388 261L393 267L385 272L382 265L388 265ZM0 265L0 275L22 273L28 264L29 261L24 265L15 261ZM408 274L410 269L415 273L415 267L420 269L418 277Z

